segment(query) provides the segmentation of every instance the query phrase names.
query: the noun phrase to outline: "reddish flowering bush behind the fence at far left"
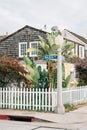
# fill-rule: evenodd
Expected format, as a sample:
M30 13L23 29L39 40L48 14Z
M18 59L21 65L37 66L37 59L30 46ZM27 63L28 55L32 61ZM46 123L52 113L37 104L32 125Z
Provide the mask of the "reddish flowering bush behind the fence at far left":
M20 84L21 81L29 84L29 80L25 77L26 74L29 72L18 60L6 56L0 58L0 87L6 87L15 82Z

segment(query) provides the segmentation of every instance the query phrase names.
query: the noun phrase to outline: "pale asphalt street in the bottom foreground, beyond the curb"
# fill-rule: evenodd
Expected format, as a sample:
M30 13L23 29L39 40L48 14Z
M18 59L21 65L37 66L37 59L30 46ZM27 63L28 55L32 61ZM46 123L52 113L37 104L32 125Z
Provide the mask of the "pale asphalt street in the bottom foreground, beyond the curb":
M26 122L0 120L0 130L71 130L57 127L34 126Z

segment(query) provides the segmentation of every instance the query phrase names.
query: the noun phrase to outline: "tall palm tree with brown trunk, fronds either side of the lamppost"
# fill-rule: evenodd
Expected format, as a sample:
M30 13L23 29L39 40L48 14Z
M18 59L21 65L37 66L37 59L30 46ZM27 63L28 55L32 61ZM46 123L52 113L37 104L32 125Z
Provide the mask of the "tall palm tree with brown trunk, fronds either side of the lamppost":
M44 58L45 55L57 55L57 45L55 43L55 37L57 35L61 35L60 31L52 32L50 34L47 34L47 39L44 39L43 37L39 36L40 39L40 45L37 48L29 48L27 49L26 53L29 53L31 51L37 51L38 57ZM66 43L64 41L63 47L62 47L62 55L66 58L68 56L70 57L72 55L72 48L74 47L71 43ZM67 53L66 53L67 52ZM49 88L53 87L52 83L52 73L55 69L55 61L54 60L47 60L47 69L48 69L48 75L49 75Z

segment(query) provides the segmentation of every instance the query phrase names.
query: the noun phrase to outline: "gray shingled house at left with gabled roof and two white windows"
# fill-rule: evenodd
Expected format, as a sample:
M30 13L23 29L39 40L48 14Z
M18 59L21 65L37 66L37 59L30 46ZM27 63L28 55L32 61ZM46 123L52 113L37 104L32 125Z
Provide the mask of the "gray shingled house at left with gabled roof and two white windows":
M39 37L46 38L47 32L26 25L11 35L0 40L0 57L7 55L15 59L22 59L29 47L38 46ZM29 54L36 57L36 52Z

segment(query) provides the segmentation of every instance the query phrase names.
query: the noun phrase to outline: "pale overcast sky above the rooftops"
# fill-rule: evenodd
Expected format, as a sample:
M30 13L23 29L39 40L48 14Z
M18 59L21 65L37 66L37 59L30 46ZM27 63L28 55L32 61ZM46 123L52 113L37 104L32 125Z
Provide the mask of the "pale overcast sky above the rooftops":
M87 0L0 0L0 35L25 25L58 26L87 38Z

